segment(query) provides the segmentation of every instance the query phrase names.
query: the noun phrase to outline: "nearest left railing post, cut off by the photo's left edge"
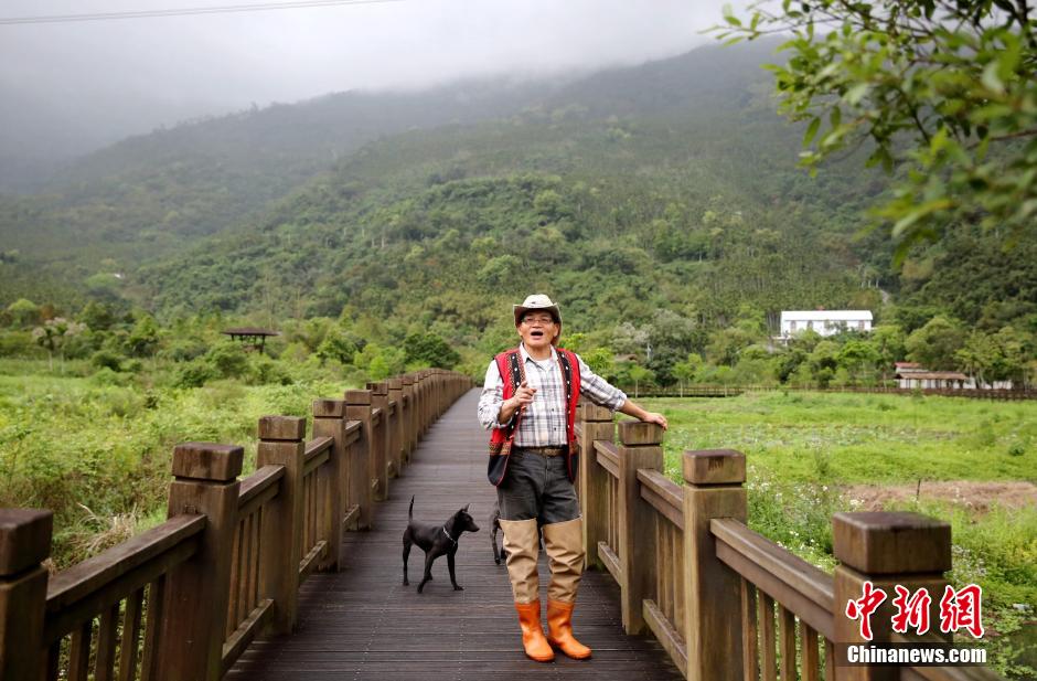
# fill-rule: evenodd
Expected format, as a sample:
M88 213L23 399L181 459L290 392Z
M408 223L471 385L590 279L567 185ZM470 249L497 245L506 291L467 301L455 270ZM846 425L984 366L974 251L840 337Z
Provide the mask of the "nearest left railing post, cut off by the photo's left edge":
M54 513L0 509L0 679L42 678L46 570Z

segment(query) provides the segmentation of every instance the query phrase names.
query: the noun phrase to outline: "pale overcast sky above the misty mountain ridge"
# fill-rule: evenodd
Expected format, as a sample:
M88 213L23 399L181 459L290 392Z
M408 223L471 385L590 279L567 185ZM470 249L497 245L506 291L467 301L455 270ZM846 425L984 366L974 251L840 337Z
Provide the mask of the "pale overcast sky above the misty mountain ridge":
M4 0L0 19L284 0ZM0 156L76 151L253 103L685 52L723 0L399 0L0 25Z

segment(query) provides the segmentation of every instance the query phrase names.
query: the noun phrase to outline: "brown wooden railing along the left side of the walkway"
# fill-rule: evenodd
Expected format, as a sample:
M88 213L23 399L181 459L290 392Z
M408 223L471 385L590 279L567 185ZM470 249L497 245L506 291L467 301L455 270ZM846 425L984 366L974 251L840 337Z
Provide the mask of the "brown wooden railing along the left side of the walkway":
M257 636L289 634L299 586L341 564L342 532L373 504L420 435L471 387L425 370L259 421L242 447L173 450L169 520L52 578L53 515L0 510L0 679L214 681Z

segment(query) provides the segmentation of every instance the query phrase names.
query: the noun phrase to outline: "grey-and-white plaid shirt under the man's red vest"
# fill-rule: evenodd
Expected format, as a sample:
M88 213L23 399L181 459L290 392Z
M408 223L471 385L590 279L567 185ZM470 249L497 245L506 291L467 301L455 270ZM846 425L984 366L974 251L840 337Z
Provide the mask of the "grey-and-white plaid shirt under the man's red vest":
M526 352L525 345L518 345L524 363L526 383L536 389L533 403L525 407L518 429L515 432L517 447L555 447L566 445L565 435L565 385L562 368L558 366L558 353L550 349L550 359L536 361ZM605 379L590 371L590 368L577 355L579 361L580 394L599 406L616 411L623 406L627 395L613 387ZM487 369L482 396L479 397L479 423L487 430L507 425L499 423L501 404L504 403L504 380L491 361ZM514 418L514 416L512 416Z

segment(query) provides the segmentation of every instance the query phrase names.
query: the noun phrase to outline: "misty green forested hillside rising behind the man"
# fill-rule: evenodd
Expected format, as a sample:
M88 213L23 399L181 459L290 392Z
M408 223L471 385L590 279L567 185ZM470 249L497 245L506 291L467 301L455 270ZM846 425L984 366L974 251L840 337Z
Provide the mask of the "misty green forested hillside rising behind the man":
M759 68L773 47L330 96L127 140L52 193L0 201L0 304L339 318L388 344L429 329L478 358L513 333L502 310L541 290L577 343L638 355L663 383L689 353L751 357L782 309L867 308L901 336L949 319L948 368L967 327L1028 348L1037 246L1005 252L965 225L894 267L866 230L885 175L855 156L815 178L795 167L802 130Z

